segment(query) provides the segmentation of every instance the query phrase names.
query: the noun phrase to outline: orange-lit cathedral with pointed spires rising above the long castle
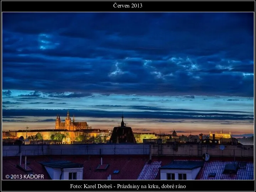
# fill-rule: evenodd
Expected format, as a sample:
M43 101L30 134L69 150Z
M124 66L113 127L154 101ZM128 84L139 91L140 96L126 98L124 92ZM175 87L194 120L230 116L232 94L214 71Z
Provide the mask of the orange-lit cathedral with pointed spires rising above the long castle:
M69 117L69 111L65 118L65 122L60 121L60 116L57 115L55 122L55 129L66 129L66 130L79 130L79 129L91 129L87 122L75 122L75 116L73 116L73 121Z

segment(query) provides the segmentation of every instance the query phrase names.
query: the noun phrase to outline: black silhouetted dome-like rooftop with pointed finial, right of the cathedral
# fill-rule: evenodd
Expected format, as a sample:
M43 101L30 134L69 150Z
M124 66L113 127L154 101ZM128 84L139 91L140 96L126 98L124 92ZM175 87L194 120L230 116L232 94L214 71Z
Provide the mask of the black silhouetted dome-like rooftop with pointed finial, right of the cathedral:
M121 126L114 127L110 137L110 143L136 143L132 128L126 127L123 118L122 116Z

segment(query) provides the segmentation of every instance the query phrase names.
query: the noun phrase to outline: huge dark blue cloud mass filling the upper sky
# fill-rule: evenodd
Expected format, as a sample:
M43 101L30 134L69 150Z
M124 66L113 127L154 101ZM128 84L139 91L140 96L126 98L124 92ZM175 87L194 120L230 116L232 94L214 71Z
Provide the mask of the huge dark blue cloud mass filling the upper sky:
M254 96L253 13L2 17L4 96Z

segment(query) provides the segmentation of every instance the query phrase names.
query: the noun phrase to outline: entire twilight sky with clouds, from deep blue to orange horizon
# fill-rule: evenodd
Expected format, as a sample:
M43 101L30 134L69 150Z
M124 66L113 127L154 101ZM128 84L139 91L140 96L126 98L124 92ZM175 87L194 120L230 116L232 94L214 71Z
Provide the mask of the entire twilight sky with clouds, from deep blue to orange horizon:
M3 129L254 133L254 13L3 13Z

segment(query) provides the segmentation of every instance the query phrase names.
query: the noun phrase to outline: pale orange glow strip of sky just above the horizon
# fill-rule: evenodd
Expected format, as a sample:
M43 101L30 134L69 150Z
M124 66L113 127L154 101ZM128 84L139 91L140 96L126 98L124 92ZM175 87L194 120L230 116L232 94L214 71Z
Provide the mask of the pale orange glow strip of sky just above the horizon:
M41 117L44 118L45 117ZM38 117L37 117L38 119ZM48 117L49 119L49 117ZM112 130L113 127L118 126L121 122L120 118L82 118L77 117L76 121L82 122L84 119L88 119L87 123L92 129L109 129ZM32 119L30 119L32 120ZM155 132L155 133L171 133L175 130L178 135L193 134L198 135L200 133L208 134L211 132L220 132L231 134L251 134L254 133L254 125L252 123L232 123L232 124L221 124L222 122L217 121L201 121L191 123L193 120L183 120L182 123L177 122L158 122L156 119L132 119L125 118L125 123L127 126L132 127L133 132ZM196 120L198 121L198 119ZM29 129L54 129L55 122L3 122L2 130L25 130L28 126Z

